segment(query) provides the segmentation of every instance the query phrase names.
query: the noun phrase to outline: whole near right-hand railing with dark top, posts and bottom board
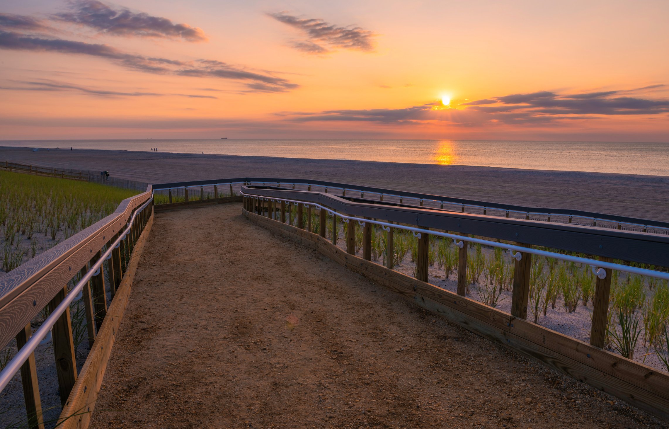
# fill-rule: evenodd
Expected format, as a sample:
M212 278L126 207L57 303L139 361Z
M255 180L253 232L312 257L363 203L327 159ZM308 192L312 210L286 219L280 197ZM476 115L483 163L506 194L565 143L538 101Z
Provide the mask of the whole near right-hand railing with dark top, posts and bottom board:
M516 240L510 240L517 242L517 250L521 250L522 253L520 260L515 261L517 272L513 282L512 294L514 302L511 313L488 307L483 303L464 296L464 286L466 286L467 280L460 274L466 272L466 242L460 248L461 264L458 270L458 292L450 292L427 282L425 268L427 267L427 258L429 256L425 250L429 246L429 235L432 235L430 231L426 230L427 226L430 229L449 230L450 232L457 231L456 234L460 236L485 232L486 234L476 235L503 238L508 233L508 231L504 231L504 228L518 228L524 224L527 228L553 230L553 225L530 220L514 220L514 222L510 222L509 224L504 222L508 221L505 218L466 215L436 209L361 203L329 193L286 189L259 189L248 186L242 187L242 193L244 197L243 213L254 222L276 230L285 236L318 250L318 252L321 252L335 262L339 262L347 268L359 272L359 274L362 274L379 286L396 292L401 297L415 303L415 305L419 305L432 313L457 323L482 337L488 338L503 347L512 349L521 355L535 359L548 367L565 373L565 375L589 383L599 390L613 394L660 418L669 420L669 374L606 351L601 348L601 344L597 344L597 341L601 339L601 331L605 329L607 322L606 314L609 306L609 291L605 282L597 282L596 294L598 297L594 303L594 313L598 316L597 318L593 317L591 344L524 320L527 316L528 268L531 264L529 254L522 252L522 247L520 247L528 246L524 236ZM265 199L268 201L263 201ZM345 252L343 249L332 244L332 240L327 240L324 234L314 234L309 230L304 230L300 224L293 226L286 222L283 215L280 219L278 219L278 216L270 216L271 208L265 216L265 207L271 207L272 199L274 199L274 204L278 203L278 201L285 202L285 200L290 200L292 204L297 203L298 207L302 204L301 201L304 201L304 205L309 209L314 203L318 204L315 209L318 210L320 207L321 226L324 224L323 218L325 213L328 213L323 207L335 211L336 213L330 213L333 216L337 216L337 213L339 213L339 216L347 218L347 251ZM299 211L302 212L302 210ZM397 272L391 266L383 266L371 261L367 252L363 252L362 257L355 255L355 228L359 228L356 225L357 222L355 222L357 219L359 219L359 222L365 223L363 228L363 243L368 242L371 237L370 222L365 222L365 219L381 221L381 224L385 225L384 228L390 228L391 230L394 224L416 226L421 229L421 234L424 235L421 235L419 238L416 278ZM516 221L520 222L520 224ZM495 228L484 226L484 222L492 222ZM401 226L397 226L397 228ZM459 228L452 228L454 226ZM500 228L502 232L499 232ZM571 228L576 228L576 230ZM526 232L526 230L520 231ZM577 231L580 231L579 236L574 235ZM599 237L601 240L601 234L607 231L600 228L567 226L567 230L554 230L546 237L551 238L551 240L557 240L561 236L576 239L585 237L591 240ZM667 253L669 248L666 247L669 246L669 240L666 240L664 236L649 236L648 234L627 232L617 233L619 234L616 238L619 240L638 240L636 246L634 246L635 250L639 250L642 246L650 243L653 246L664 246L662 247L664 249L664 258L669 254ZM626 237L625 234L630 235ZM389 234L388 238L390 239L391 237L392 235ZM656 239L659 241L656 241ZM521 244L518 242L520 240L525 243ZM559 242L559 240L556 242ZM622 243L626 243L623 246L629 246L632 241L624 241ZM561 246L555 247L561 248ZM602 253L601 250L599 253ZM644 256L647 255L647 253L644 253ZM465 256L464 259L463 256ZM464 260L464 264L462 264L462 260ZM609 275L605 278L609 278L610 272L607 274Z

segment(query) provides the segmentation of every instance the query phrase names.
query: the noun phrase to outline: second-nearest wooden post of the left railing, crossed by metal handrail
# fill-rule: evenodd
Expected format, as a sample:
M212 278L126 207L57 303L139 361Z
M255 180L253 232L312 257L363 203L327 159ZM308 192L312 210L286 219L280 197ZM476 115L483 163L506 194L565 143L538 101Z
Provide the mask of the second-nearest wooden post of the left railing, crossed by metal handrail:
M65 299L68 293L67 284L58 291L49 303L49 310L54 311ZM70 319L70 307L58 318L52 328L52 341L54 344L54 356L56 357L56 373L58 374L58 388L60 390L60 404L62 406L68 401L68 396L77 379L76 355L74 354L74 341L72 340L72 321Z

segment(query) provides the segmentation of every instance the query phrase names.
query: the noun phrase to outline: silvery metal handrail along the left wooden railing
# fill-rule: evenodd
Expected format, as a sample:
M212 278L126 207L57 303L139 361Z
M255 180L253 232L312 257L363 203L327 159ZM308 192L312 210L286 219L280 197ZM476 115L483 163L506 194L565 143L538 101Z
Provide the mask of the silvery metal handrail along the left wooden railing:
M114 250L114 248L116 248L116 246L118 246L122 240L125 240L126 236L128 236L132 229L132 224L134 224L134 220L138 213L144 210L147 205L151 203L151 201L153 201L153 197L147 199L147 202L140 205L140 207L138 207L138 209L132 213L130 221L128 222L126 230L123 232L123 234L118 236L118 238L114 240L114 243L108 246L106 252L102 254L100 259L98 259L97 262L88 268L88 271L86 274L84 274L82 279L79 280L76 286L74 286L74 288L72 288L68 294L66 294L65 298L60 302L58 307L52 311L49 317L47 317L41 326L37 328L37 331L31 335L25 345L23 345L18 353L12 357L9 363L7 363L7 366L5 366L5 369L0 371L0 392L7 386L7 384L9 384L9 381L11 381L15 373L21 369L21 365L23 365L23 363L29 359L33 351L37 349L37 346L41 343L41 341L51 334L51 330L54 325L56 325L58 319L62 316L63 313L65 313L68 307L70 307L70 304L72 304L74 298L78 298L80 292L82 292L84 289L84 285L87 284L90 279L95 276L99 270L102 269L102 263L108 258L108 256L112 254L112 250Z

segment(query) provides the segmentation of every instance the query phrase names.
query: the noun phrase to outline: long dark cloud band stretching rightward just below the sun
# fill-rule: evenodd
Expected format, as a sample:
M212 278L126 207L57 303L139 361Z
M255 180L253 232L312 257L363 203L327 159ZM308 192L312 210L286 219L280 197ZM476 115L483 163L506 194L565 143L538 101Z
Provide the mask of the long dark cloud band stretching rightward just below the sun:
M656 86L657 87L657 86ZM407 108L345 109L322 112L280 112L286 120L295 122L381 122L394 124L445 122L458 126L485 124L559 124L573 120L596 120L612 115L657 115L669 113L669 100L650 100L617 96L626 90L555 94L541 91L530 94L510 94L452 104L446 108L440 102L430 102Z

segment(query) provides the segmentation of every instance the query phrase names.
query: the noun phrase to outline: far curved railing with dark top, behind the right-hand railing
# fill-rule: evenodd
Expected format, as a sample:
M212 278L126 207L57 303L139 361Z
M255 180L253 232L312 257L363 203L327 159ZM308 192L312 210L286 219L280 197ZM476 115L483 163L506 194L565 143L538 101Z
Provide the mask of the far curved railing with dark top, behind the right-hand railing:
M499 216L505 218L525 218L527 220L542 220L544 222L556 223L581 223L603 228L612 228L617 230L632 230L638 232L650 232L654 234L669 235L669 222L660 222L641 218L631 218L628 216L617 216L606 213L596 213L593 211L583 211L575 209L560 209L549 207L529 207L525 205L513 205L504 203L493 203L489 201L478 201L474 199L464 199L448 197L444 195L434 195L428 193L417 193L409 191L397 191L395 189L385 189L380 187L351 185L347 183L338 183L332 181L312 180L312 179L285 179L276 177L235 177L229 179L183 181L173 183L158 183L153 185L155 192L167 191L169 200L172 199L172 191L185 189L185 200L189 199L189 188L203 189L208 187L211 191L213 187L224 185L221 189L230 190L239 189L240 185L276 185L276 187L288 186L292 189L302 190L322 190L326 193L338 192L341 195L360 197L361 199L376 199L377 201L395 202L407 205L418 205L421 207L434 207L448 209L450 211L460 211L474 214L484 214L488 216ZM217 197L217 190L214 190L214 198ZM193 195L191 193L191 195ZM375 198L371 198L375 197ZM167 202L167 201L166 201ZM413 204L411 204L413 203Z

